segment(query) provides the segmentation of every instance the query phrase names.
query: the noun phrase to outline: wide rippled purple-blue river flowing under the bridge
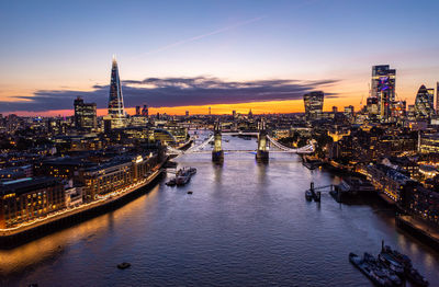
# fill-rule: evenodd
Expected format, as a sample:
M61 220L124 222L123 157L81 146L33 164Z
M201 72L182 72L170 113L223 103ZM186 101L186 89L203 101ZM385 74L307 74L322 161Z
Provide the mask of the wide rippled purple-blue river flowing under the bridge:
M224 136L224 149L256 140ZM338 179L309 171L295 154L184 154L198 173L183 187L151 191L117 210L10 251L0 251L1 286L371 286L349 252L378 254L381 240L412 257L439 286L439 254L395 228L379 200L305 200L309 182ZM169 174L168 176L171 176ZM187 192L192 191L192 195ZM116 265L130 262L131 268Z

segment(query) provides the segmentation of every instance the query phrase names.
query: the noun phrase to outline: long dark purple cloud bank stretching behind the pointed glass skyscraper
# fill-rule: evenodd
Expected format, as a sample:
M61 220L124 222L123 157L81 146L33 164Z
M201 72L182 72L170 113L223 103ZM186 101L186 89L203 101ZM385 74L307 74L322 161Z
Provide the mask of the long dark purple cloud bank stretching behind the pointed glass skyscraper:
M125 107L148 104L151 107L184 105L238 104L247 102L301 100L303 94L323 90L338 80L259 80L224 81L213 77L147 78L123 81ZM32 96L15 96L21 101L0 102L0 112L46 112L71 110L74 100L81 96L105 108L109 85L94 84L91 91L40 90ZM336 94L325 96L335 97Z

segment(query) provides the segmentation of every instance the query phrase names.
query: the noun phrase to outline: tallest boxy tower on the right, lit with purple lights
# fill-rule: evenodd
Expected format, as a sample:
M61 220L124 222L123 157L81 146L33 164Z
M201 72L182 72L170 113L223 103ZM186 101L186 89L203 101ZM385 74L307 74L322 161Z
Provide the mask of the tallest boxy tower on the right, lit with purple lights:
M389 65L372 67L371 96L378 99L378 114L382 122L391 116L391 103L395 101L396 70Z

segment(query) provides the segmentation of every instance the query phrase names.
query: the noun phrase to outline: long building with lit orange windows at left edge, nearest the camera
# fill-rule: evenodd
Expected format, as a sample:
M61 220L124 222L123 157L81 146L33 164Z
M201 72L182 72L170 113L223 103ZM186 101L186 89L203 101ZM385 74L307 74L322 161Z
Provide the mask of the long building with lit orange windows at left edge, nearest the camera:
M65 207L64 184L53 177L0 183L0 228L10 228Z

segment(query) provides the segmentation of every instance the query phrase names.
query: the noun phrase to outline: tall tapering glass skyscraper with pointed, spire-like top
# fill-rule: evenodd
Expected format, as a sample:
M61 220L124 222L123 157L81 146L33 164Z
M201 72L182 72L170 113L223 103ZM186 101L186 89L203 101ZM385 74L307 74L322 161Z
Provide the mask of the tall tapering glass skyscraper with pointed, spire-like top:
M112 128L119 128L124 126L125 111L123 104L122 85L119 78L117 61L113 57L113 64L111 68L111 81L110 81L110 97L109 97L109 116L111 116Z

